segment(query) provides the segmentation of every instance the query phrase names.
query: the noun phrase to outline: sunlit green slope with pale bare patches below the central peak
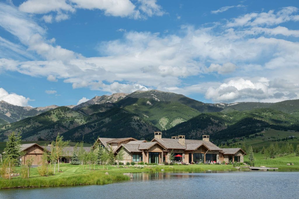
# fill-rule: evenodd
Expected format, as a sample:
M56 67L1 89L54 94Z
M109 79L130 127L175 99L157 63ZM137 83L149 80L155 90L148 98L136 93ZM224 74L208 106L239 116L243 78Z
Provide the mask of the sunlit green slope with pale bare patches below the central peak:
M200 114L198 110L178 102L156 101L148 98L127 97L117 104L124 110L150 121L161 130L174 127Z

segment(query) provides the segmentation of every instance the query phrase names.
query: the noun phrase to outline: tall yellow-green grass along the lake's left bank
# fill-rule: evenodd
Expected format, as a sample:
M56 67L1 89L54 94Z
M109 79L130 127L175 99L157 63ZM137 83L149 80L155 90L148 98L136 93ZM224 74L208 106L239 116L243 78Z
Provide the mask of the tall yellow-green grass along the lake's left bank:
M87 174L71 175L63 178L16 178L12 180L0 179L0 189L23 188L23 187L44 187L44 186L76 186L91 184L109 184L117 181L129 180L129 177L123 174L109 172L105 175L103 171L95 171Z

